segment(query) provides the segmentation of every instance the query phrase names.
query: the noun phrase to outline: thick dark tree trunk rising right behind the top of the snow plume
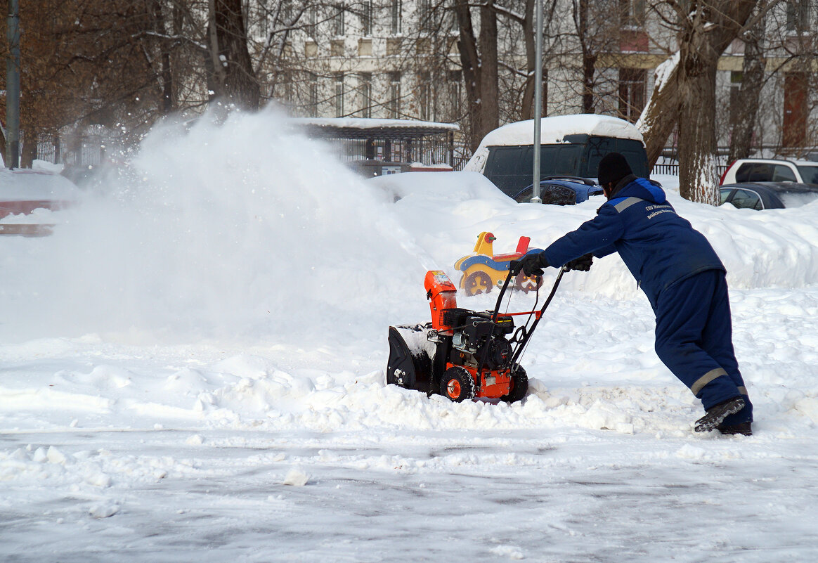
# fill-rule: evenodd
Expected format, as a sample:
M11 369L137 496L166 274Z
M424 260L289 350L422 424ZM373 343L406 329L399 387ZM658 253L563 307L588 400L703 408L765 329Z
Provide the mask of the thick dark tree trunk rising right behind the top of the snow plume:
M210 0L209 38L217 96L243 110L258 110L261 89L247 50L241 0Z

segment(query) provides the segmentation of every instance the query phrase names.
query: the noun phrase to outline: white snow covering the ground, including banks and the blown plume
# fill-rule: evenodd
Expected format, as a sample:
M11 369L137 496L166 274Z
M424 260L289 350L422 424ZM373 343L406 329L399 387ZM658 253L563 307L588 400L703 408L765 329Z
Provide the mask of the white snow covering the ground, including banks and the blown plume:
M545 246L602 200L362 181L282 129L157 131L52 236L0 239L0 561L818 556L818 202L712 208L658 178L730 270L752 437L694 434L615 255L565 275L522 403L449 403L384 385L425 271L457 281L482 231Z

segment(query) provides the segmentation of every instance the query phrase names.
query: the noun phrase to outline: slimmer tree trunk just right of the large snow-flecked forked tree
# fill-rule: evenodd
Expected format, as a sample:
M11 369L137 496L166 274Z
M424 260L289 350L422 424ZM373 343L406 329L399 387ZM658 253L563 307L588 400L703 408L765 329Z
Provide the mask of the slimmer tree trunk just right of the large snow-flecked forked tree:
M753 128L758 115L764 83L764 59L761 39L764 33L763 20L744 39L744 63L742 65L741 88L736 100L740 108L739 119L733 124L733 135L730 137L730 162L748 158L753 144Z

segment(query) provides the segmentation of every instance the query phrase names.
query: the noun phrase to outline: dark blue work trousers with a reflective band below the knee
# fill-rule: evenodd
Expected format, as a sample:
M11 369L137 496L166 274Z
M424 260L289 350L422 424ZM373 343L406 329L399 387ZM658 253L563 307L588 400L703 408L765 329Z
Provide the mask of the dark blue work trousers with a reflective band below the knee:
M706 270L663 291L656 313L656 354L706 409L737 395L744 409L723 424L753 421L753 403L735 360L725 272Z

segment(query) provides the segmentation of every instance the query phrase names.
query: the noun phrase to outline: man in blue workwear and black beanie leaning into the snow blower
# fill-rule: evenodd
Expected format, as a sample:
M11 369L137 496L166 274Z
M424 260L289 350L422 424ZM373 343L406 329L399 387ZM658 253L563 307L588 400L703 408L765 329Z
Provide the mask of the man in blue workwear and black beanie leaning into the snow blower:
M599 182L608 201L541 253L513 268L587 271L592 258L618 252L656 315L656 354L701 399L696 432L752 435L753 404L735 360L726 270L708 240L667 203L657 183L636 178L625 157L605 155Z

